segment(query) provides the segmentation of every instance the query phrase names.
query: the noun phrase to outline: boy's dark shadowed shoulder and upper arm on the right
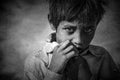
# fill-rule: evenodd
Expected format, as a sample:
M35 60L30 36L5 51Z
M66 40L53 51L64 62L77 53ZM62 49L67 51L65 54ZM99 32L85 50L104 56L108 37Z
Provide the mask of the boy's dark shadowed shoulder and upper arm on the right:
M115 76L117 76L120 70L115 61L113 60L112 56L110 55L110 53L104 47L95 45L90 45L90 50L97 57L101 56L99 76L105 80L115 78Z

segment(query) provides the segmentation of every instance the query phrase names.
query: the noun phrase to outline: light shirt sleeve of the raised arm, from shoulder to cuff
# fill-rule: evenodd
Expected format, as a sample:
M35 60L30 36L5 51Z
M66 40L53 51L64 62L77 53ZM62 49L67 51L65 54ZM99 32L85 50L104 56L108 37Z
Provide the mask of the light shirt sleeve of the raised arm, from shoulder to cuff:
M26 59L24 64L24 80L61 80L61 78L61 75L50 71L47 68L47 64L35 55L30 55Z

